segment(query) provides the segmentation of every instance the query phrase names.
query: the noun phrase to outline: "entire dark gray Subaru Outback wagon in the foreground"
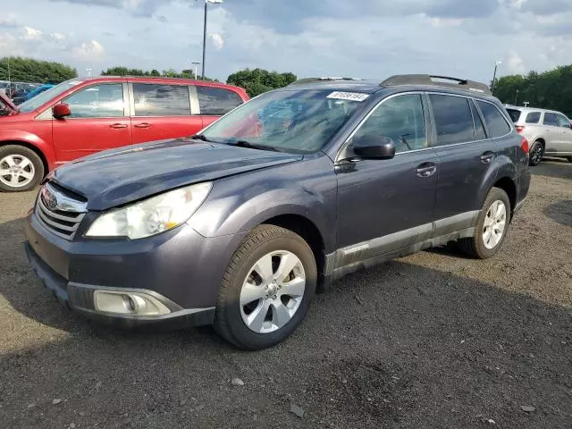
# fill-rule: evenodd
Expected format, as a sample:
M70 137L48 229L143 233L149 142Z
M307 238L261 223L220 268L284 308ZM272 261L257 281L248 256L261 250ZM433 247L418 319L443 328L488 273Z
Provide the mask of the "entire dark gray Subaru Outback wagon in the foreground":
M306 80L191 138L57 168L25 248L46 287L84 315L214 324L263 349L347 273L451 241L495 255L526 198L528 161L483 84Z

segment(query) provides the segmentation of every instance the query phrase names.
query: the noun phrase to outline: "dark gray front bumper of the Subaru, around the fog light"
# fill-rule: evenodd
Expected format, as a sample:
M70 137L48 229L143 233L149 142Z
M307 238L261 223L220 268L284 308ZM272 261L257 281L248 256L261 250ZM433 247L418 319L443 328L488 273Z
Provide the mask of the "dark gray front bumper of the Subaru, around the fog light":
M24 231L29 262L48 290L67 307L106 324L169 327L212 324L223 273L240 236L206 239L181 225L143 240L64 240L29 214ZM167 315L97 310L96 290L143 292Z

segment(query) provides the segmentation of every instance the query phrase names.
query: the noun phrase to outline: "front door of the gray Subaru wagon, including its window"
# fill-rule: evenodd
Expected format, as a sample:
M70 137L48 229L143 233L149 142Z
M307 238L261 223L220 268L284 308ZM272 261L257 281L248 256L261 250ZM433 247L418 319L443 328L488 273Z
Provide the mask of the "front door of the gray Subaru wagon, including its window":
M429 238L439 167L427 147L428 128L422 95L404 94L384 99L349 140L346 159L336 164L338 265ZM396 156L352 157L359 139L382 137L395 142Z

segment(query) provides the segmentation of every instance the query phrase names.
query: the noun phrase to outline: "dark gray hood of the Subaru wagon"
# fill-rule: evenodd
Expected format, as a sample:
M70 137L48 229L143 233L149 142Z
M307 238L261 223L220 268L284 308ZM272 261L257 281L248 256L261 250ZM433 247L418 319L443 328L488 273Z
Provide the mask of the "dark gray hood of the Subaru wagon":
M302 158L193 139L161 140L80 158L55 169L48 180L86 198L88 209L105 210L199 181Z

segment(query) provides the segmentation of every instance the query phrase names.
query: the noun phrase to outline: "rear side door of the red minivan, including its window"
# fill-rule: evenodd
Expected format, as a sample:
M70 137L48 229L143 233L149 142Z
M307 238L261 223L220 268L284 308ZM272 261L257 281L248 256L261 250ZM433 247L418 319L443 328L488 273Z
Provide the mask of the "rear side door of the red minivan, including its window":
M189 137L203 128L190 111L189 87L130 83L133 144Z

